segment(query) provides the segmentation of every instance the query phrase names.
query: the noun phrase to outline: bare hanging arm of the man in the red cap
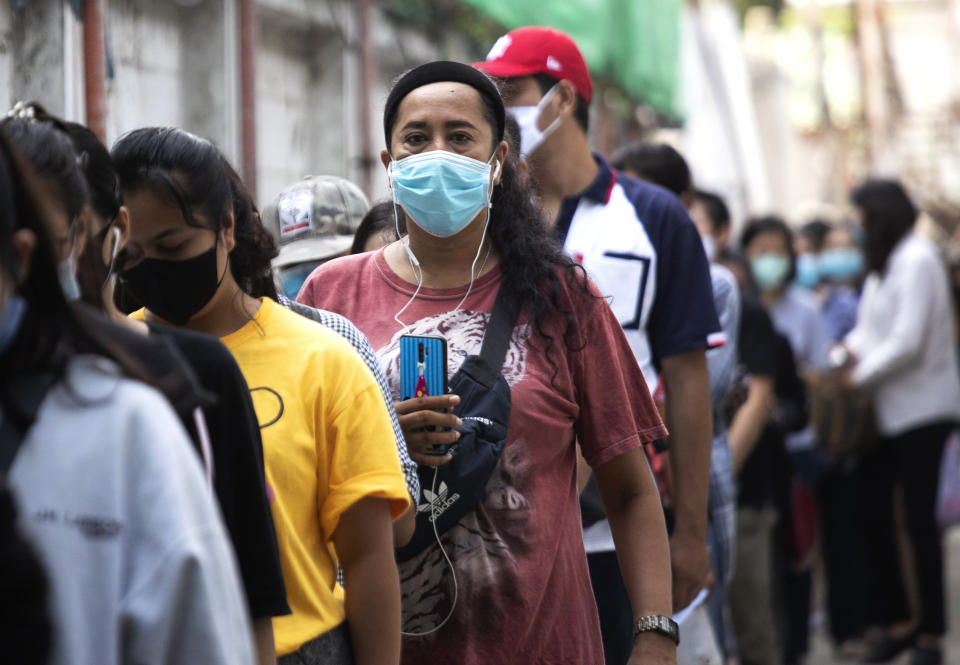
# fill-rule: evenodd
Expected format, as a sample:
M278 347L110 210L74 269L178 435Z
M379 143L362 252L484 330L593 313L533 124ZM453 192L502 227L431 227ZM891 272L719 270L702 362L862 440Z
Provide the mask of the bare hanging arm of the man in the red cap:
M713 441L710 376L703 349L665 356L660 364L673 471L673 607L679 611L710 581L706 542Z

